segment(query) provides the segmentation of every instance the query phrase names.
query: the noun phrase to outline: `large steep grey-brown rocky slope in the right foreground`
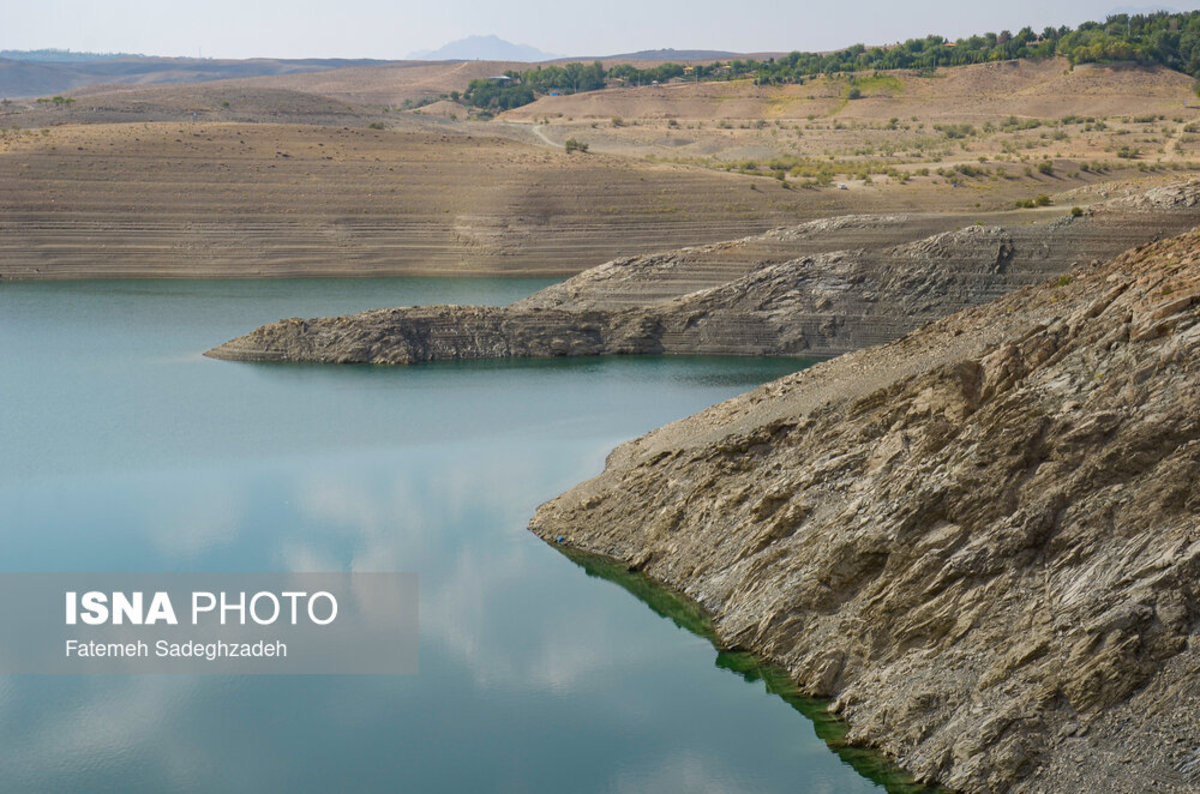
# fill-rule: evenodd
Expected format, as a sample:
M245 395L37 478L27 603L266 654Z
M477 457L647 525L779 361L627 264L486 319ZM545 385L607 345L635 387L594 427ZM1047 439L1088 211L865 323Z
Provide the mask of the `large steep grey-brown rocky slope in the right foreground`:
M690 596L920 778L1194 792L1198 361L1189 233L630 441L530 527Z

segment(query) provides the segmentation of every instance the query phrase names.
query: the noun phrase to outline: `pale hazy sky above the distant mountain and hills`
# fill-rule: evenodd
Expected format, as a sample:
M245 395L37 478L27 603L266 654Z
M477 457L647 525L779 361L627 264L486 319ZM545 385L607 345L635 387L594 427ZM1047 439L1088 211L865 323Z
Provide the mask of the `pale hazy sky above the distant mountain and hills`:
M1134 0L5 0L0 49L205 58L380 58L475 34L564 55L638 49L823 50L941 34L1075 25ZM1165 7L1200 8L1200 0ZM584 13L575 8L589 8Z

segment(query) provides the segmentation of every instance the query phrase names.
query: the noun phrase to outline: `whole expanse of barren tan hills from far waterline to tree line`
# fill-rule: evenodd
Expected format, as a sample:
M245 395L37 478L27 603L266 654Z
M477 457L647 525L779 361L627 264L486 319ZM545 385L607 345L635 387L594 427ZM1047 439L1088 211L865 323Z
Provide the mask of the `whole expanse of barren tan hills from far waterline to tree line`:
M505 66L0 104L0 277L574 273L847 212L986 224L1014 201L1087 206L1200 168L1200 119L1176 104L1188 78L1140 67L860 76L853 101L838 79L682 83L490 122L395 107ZM589 151L568 156L572 139Z

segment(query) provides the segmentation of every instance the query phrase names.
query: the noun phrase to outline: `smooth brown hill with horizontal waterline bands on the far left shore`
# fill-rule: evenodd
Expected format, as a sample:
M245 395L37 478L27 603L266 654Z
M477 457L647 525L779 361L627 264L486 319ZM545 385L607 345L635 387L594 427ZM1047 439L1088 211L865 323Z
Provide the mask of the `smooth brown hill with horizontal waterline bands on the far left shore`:
M570 273L779 224L804 198L414 118L67 125L0 139L0 276Z

